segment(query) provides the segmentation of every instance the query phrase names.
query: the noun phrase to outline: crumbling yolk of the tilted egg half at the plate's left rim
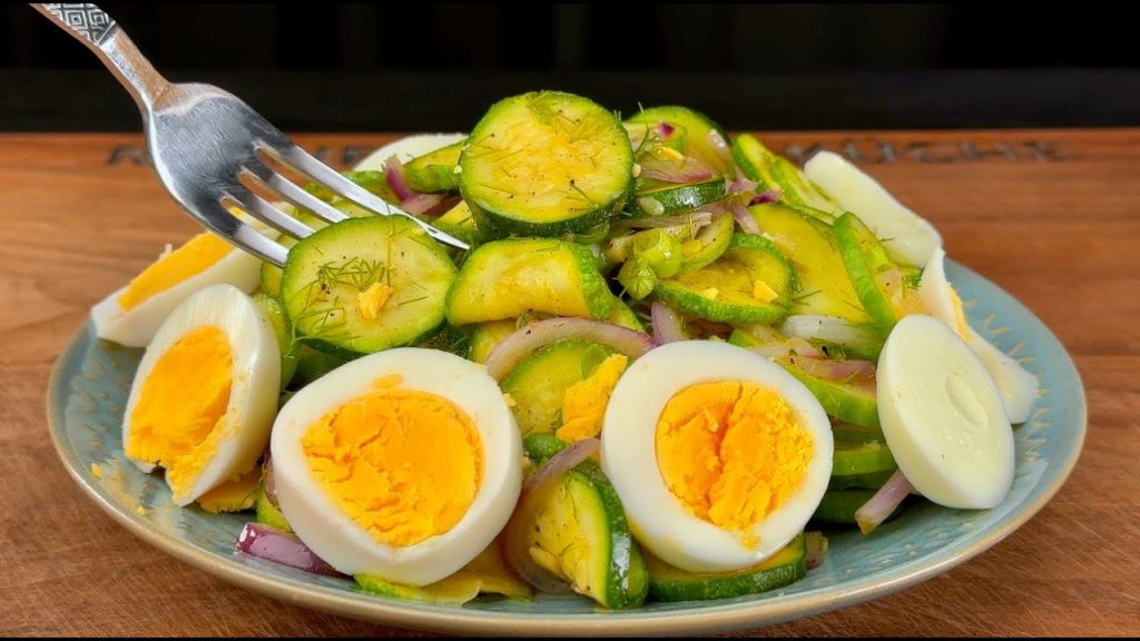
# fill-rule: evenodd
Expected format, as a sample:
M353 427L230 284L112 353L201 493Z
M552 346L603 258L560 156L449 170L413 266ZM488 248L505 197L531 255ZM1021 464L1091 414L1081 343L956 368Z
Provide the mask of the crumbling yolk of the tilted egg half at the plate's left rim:
M165 468L176 497L190 492L226 435L233 370L229 339L206 325L174 342L142 382L127 455Z

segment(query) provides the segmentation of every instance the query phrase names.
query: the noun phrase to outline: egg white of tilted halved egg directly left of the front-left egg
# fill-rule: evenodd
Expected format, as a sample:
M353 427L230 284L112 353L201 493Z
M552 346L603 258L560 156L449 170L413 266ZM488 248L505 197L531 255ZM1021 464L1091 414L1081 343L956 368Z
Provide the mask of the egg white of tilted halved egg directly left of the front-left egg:
M127 399L124 447L130 440L131 415L155 364L187 333L211 325L226 334L233 356L233 384L222 428L226 436L189 493L172 496L178 505L188 505L226 480L253 469L269 443L269 429L277 412L280 348L269 319L245 292L225 283L211 285L192 294L166 317L142 355ZM187 387L196 383L186 381ZM155 466L149 461L132 461L145 472Z

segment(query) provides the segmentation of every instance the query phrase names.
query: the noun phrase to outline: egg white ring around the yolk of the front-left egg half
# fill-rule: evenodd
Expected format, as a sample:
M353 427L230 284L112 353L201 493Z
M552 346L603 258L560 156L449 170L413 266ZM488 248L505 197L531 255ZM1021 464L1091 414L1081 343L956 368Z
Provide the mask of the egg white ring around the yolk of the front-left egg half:
M448 532L408 546L381 543L343 512L314 477L301 446L310 425L397 374L399 389L434 393L472 420L483 446L483 476L467 512ZM426 585L465 566L506 525L522 482L514 415L482 365L433 349L398 348L342 365L306 386L282 408L271 438L277 501L290 526L331 566L408 585Z

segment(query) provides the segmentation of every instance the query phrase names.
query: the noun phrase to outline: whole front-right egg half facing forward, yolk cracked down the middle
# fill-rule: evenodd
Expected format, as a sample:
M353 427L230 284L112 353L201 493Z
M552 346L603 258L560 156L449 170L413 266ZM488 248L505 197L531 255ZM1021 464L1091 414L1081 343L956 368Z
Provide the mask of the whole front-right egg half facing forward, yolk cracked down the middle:
M803 532L832 451L828 416L803 383L711 341L633 362L602 429L602 468L634 536L689 571L756 565Z

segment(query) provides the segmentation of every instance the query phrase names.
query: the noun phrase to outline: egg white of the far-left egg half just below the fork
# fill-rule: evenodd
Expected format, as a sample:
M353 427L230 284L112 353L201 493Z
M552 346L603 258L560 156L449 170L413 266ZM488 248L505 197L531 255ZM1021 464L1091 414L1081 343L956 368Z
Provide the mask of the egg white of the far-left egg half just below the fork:
M139 302L128 311L119 305L119 297L127 291L123 286L91 308L95 333L100 339L127 347L146 347L154 338L162 322L194 292L225 283L245 293L258 287L261 277L261 261L244 251L235 249L221 260Z

